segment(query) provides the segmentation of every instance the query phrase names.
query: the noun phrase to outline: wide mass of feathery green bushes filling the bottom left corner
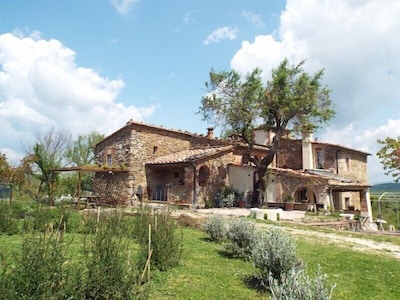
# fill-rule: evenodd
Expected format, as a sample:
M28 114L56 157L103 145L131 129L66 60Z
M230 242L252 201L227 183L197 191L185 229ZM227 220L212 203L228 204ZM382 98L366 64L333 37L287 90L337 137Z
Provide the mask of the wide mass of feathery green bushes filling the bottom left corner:
M121 216L101 218L84 240L83 255L71 260L64 231L26 235L12 261L0 252L1 299L144 299Z

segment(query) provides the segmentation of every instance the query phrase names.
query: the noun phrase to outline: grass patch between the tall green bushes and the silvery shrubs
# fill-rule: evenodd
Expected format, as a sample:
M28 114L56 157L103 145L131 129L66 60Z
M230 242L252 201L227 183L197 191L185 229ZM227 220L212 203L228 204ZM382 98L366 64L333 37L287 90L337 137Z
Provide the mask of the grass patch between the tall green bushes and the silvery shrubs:
M246 286L251 263L224 257L222 246L198 230L185 229L184 241L181 265L158 274L151 299L268 299Z

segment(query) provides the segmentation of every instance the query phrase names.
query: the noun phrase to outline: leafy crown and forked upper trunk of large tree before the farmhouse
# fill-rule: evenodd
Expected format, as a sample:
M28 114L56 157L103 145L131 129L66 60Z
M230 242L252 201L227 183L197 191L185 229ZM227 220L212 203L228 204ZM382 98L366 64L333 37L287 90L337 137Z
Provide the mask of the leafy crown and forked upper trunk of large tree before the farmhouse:
M265 85L260 69L244 77L235 70L211 70L200 113L206 121L221 126L224 134L240 136L248 145L249 160L266 170L287 131L310 134L335 114L330 91L321 83L323 70L309 75L303 65L304 61L291 65L283 60ZM260 159L251 155L255 128L275 133L269 154Z

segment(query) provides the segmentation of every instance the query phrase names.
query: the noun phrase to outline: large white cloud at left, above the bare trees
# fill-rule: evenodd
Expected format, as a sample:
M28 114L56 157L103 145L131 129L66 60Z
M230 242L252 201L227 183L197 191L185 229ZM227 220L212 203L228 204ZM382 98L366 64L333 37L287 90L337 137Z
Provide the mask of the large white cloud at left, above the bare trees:
M15 153L40 131L91 130L109 134L129 119L143 120L156 107L117 102L125 87L75 63L75 52L57 40L0 35L0 140Z

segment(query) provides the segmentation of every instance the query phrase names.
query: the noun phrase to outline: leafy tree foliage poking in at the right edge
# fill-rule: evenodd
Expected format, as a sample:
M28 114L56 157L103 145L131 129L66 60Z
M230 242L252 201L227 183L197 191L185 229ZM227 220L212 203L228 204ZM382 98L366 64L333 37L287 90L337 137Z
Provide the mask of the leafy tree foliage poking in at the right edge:
M377 140L382 148L376 153L381 159L386 175L392 175L396 182L400 181L400 136L395 138L387 137L384 140Z

